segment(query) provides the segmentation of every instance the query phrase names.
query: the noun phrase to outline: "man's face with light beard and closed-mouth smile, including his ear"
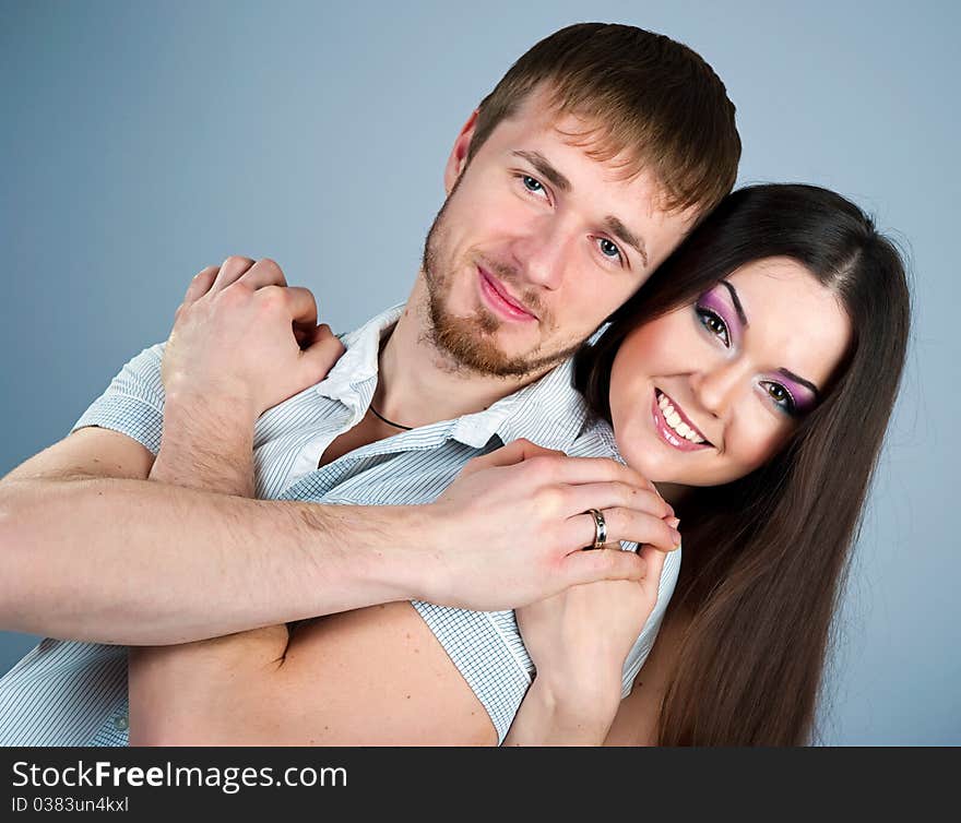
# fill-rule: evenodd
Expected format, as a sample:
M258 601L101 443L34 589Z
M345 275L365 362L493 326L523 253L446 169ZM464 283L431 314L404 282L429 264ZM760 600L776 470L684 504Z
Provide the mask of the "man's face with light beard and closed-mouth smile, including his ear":
M624 158L601 163L572 145L570 133L585 126L532 95L466 168L473 118L462 130L423 263L431 338L458 366L500 377L547 371L690 228L693 212L665 211L648 172L626 180Z

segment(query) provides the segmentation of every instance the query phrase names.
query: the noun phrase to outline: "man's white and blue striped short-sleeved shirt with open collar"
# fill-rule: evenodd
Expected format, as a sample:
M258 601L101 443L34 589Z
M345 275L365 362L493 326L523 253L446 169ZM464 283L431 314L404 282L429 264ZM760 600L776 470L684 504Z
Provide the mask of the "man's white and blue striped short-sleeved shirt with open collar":
M257 497L345 505L428 503L471 457L518 438L574 456L620 460L610 428L589 415L571 386L568 361L484 412L401 432L318 468L334 438L364 418L377 385L380 341L402 310L389 309L345 335L346 351L323 381L258 419ZM162 358L163 344L157 344L124 365L72 430L112 429L156 454L164 414ZM668 554L657 605L628 656L625 695L654 643L679 554ZM413 605L487 709L501 742L534 673L513 612ZM127 649L40 642L0 679L0 744L127 746Z

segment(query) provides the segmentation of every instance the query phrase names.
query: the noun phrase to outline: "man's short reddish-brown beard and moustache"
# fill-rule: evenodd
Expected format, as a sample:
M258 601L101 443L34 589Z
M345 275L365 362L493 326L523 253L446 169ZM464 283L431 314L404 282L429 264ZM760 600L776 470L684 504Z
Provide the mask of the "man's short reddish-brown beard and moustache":
M547 354L543 353L538 345L526 355L511 357L498 348L494 336L503 321L485 306L478 306L473 314L465 318L455 317L448 310L447 302L453 285L453 263L441 259L439 247L443 244L444 212L456 193L462 178L463 172L437 213L437 217L434 218L424 242L420 266L427 283L427 309L430 320L428 338L456 368L498 378L542 374L577 351L582 341ZM505 282L518 284L517 274L502 264L485 260L485 266L495 271ZM536 295L523 295L522 305L537 309L541 327L550 329L550 317Z

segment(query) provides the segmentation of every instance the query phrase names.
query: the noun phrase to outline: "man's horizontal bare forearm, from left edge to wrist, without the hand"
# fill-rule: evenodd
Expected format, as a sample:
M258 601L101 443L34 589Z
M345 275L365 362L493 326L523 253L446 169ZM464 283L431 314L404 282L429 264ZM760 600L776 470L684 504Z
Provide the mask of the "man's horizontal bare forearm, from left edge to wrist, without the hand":
M416 598L427 517L156 480L8 480L0 624L159 645Z

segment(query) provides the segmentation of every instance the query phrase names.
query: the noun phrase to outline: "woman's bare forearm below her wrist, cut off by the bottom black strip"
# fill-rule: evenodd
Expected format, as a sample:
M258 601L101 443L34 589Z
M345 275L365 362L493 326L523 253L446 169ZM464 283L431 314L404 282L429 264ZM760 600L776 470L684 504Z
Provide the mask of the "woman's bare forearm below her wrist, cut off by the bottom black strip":
M514 717L505 746L601 746L620 694L602 690L576 695L536 678Z

